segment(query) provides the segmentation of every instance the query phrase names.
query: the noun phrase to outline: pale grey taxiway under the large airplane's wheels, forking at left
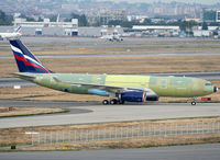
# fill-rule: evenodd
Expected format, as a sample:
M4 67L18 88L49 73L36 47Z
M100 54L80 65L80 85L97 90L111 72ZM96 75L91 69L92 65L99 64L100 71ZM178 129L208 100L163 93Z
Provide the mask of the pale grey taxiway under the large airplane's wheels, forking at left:
M6 104L4 101L0 101L0 105L2 105L2 102ZM20 105L21 103L22 102L20 102ZM34 103L36 104L37 102L35 101ZM86 103L84 103L84 105L77 105L78 102L76 104L75 102L72 102L70 104L65 104L62 102L57 103L59 103L58 107L66 106L70 110L85 110L85 113L1 118L0 128L220 116L220 103L197 104L196 106L186 103L150 103L139 105L100 105L98 102L97 104L88 105L86 105ZM10 101L8 104L10 105ZM23 104L26 106L26 102L23 102ZM13 103L13 105L11 104L10 106L16 105ZM41 102L41 106L54 105L51 105L51 103L47 102Z

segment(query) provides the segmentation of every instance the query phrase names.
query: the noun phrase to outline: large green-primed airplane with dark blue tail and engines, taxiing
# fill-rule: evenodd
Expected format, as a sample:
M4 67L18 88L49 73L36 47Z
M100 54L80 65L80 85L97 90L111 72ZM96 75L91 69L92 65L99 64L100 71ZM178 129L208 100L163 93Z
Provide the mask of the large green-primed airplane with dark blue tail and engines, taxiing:
M196 105L195 98L218 91L211 82L198 78L55 73L41 64L20 39L9 42L20 71L14 76L67 93L108 96L102 101L105 105L158 101L160 96L191 98L191 105Z

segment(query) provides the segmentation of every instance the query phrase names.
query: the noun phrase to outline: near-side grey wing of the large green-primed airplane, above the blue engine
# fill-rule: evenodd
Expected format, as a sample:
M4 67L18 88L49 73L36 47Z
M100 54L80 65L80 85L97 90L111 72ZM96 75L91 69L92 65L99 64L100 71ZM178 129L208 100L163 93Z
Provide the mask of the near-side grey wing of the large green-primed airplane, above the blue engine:
M82 82L65 82L65 81L61 81L57 78L53 77L53 79L56 82L63 82L63 83L68 83L72 85L77 85L77 87L85 87L85 88L89 88L89 89L98 89L98 90L103 90L107 92L111 92L111 93L122 93L125 91L145 91L145 92L150 92L150 93L154 93L156 94L154 91L152 91L151 89L147 88L138 88L138 87L116 87L116 85L106 85L106 84L96 84L96 83L82 83Z

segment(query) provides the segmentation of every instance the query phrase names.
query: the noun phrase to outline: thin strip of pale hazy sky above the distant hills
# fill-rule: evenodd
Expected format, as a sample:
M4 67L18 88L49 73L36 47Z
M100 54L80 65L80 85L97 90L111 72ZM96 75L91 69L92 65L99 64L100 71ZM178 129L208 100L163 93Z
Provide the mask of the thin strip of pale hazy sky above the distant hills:
M99 0L101 1L101 0ZM114 2L118 1L128 1L128 2L158 2L160 0L111 0ZM161 0L161 2L172 2L172 1L177 1L177 2L186 2L186 3L204 3L204 4L213 4L217 2L220 2L220 0Z

